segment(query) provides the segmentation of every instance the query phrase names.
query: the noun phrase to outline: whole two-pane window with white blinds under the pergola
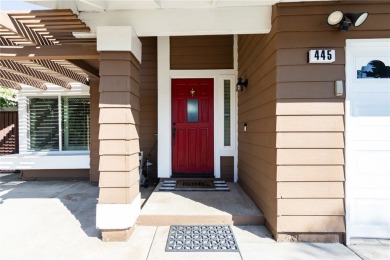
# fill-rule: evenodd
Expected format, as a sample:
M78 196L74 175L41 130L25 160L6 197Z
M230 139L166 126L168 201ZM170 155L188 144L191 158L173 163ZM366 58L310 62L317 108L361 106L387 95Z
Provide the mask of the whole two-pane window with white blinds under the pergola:
M89 114L89 97L31 98L30 150L89 150Z

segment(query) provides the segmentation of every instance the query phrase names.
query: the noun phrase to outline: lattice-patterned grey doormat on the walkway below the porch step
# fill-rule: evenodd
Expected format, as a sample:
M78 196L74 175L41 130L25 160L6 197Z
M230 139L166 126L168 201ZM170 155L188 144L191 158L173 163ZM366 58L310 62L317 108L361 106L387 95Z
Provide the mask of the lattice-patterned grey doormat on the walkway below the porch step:
M165 252L239 252L230 226L171 226Z

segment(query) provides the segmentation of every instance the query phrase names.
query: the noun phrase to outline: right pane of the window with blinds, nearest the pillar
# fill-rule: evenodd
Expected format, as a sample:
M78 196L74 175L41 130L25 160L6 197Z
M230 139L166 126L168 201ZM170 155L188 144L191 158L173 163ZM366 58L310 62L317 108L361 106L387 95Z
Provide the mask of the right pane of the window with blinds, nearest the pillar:
M89 150L89 98L63 97L62 150Z

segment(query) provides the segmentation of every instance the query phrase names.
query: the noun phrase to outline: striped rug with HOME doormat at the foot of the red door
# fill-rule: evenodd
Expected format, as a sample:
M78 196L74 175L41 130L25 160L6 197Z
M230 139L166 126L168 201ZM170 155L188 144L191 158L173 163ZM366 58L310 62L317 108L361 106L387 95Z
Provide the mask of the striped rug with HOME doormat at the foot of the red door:
M159 191L230 191L223 180L164 180Z

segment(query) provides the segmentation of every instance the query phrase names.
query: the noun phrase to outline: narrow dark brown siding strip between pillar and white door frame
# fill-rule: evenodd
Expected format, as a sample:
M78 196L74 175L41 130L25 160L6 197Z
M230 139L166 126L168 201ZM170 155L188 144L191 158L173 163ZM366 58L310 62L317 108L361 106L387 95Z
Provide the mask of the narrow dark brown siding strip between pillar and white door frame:
M140 38L142 43L140 83L140 147L144 156L150 153L150 178L157 179L157 37Z

